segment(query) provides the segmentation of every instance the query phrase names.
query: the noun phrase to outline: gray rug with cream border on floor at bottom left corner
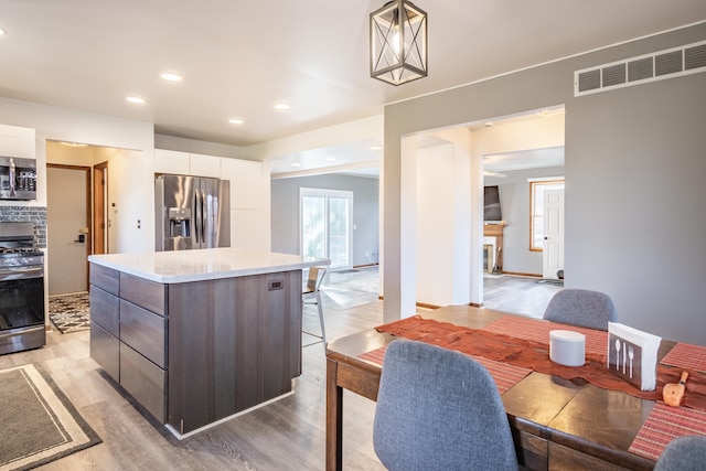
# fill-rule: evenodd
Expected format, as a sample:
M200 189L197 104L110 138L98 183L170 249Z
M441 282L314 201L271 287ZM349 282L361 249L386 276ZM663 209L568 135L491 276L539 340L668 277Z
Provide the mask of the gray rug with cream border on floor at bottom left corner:
M0 371L0 471L30 470L101 440L38 364Z

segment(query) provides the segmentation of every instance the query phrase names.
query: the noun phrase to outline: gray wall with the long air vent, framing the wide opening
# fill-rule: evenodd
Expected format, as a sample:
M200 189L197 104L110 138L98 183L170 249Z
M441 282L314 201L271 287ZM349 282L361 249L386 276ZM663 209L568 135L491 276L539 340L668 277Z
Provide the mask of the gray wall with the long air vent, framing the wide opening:
M706 24L385 108L385 320L400 315L400 137L564 104L566 287L706 345L706 74L574 97L574 72L703 41ZM479 224L478 220L474 224Z

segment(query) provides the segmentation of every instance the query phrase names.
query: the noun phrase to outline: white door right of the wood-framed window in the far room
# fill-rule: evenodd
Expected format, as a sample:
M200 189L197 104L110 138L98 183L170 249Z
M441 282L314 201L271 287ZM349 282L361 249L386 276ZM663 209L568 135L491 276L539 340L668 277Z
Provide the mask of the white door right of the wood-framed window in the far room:
M564 189L544 191L542 276L558 279L564 269Z

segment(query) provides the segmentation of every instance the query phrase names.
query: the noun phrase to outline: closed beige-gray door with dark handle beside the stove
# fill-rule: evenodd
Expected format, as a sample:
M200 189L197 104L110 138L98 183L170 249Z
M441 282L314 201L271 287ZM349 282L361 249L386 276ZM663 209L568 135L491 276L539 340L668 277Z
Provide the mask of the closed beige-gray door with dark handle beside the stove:
M46 165L49 293L88 290L90 168Z

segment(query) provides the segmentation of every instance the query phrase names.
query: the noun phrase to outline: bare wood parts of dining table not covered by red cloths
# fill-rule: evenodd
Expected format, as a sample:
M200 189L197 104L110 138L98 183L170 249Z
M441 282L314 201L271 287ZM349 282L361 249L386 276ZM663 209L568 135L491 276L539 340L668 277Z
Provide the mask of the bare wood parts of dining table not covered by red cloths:
M450 306L429 311L424 318L478 330L506 315L513 314ZM382 366L361 355L384 347L394 339L389 333L371 329L329 342L327 470L344 468L343 389L376 400ZM662 341L659 358L674 345ZM518 461L527 469L651 470L655 464L629 451L655 406L654 400L597 387L582 378L565 379L535 371L501 397Z

